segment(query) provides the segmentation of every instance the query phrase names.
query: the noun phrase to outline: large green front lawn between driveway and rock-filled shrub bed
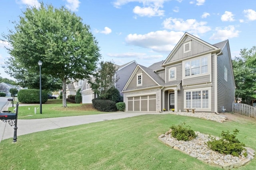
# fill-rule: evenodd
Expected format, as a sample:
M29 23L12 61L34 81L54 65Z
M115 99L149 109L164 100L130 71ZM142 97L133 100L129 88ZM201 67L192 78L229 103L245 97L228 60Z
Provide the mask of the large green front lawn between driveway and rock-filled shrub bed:
M216 170L174 150L158 136L185 122L193 130L219 136L240 130L237 138L256 150L256 123L217 123L179 115L142 115L18 136L0 143L0 169L14 170ZM252 170L256 160L238 169Z

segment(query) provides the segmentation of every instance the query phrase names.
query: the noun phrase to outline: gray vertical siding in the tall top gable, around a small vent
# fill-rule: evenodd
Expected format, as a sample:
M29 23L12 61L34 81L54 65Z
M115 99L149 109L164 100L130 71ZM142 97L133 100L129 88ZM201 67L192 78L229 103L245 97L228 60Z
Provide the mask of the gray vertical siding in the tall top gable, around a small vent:
M191 40L191 39L187 37L184 40L184 42L187 42L189 40ZM177 49L176 53L174 53L173 56L167 61L167 63L171 62L171 61L176 61L178 59L183 59L183 58L186 58L186 57L189 57L189 56L192 56L192 55L196 55L196 54L199 54L199 53L202 53L202 52L205 52L205 51L210 51L211 49L212 48L209 48L208 46L203 45L202 43L192 39L192 41L191 41L191 51L190 52L184 53L183 52L183 44L182 44Z

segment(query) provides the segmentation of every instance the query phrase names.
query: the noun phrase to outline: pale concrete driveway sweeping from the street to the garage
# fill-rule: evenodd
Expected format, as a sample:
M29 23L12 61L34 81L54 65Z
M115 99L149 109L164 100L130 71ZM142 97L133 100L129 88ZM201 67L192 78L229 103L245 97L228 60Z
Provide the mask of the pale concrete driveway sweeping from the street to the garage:
M8 109L10 102L2 110ZM19 105L22 106L22 105ZM149 112L116 112L116 113L105 113L98 115L83 115L83 116L72 116L72 117L56 117L56 118L45 118L45 119L18 119L17 122L17 137L23 134L29 134L33 132L39 132L44 130L70 127L75 125L82 125L100 121L108 121L114 119L122 119L127 117L134 117L138 115L146 114L168 114L168 113L149 113ZM0 121L0 141L7 138L12 138L14 134L14 126L10 126L8 123Z

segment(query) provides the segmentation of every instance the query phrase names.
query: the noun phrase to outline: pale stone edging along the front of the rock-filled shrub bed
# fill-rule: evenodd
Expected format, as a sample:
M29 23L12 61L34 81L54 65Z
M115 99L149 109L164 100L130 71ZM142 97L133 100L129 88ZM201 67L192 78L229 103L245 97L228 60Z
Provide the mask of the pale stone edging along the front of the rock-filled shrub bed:
M227 163L224 163L224 164L218 164L217 162L210 162L207 159L204 159L203 157L196 156L196 154L194 154L194 153L188 153L185 150L182 150L182 148L180 148L182 143L174 144L170 140L166 140L166 138L173 138L173 137L170 137L170 132L171 132L171 130L167 131L165 134L161 134L158 137L158 139L161 140L162 142L164 142L164 144L166 144L167 146L170 146L175 150L178 150L178 151L180 151L184 154L188 154L188 155L190 155L194 158L197 158L198 160L201 160L202 162L205 162L205 163L209 164L210 166L216 166L218 168L223 168L223 169L238 168L238 167L244 166L246 163L250 162L250 160L252 160L255 156L255 154L254 154L255 151L252 148L246 147L246 152L247 152L248 156L246 158L245 157L241 158L241 161L238 162L238 163L232 163L232 162L228 163L227 162ZM197 133L200 133L200 132L197 132ZM203 135L206 135L206 134L203 134ZM206 135L206 136L208 136L208 135ZM182 142L184 142L184 141L182 141ZM184 147L186 147L186 146L184 146ZM212 152L214 152L214 151L212 151Z

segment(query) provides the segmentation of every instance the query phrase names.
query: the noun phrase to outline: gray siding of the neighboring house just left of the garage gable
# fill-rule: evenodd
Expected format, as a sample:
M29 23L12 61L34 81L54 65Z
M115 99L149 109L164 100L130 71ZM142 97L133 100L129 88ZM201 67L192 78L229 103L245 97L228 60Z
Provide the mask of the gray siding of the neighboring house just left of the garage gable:
M118 89L119 91L122 91L126 82L132 75L132 72L134 71L136 65L137 64L133 62L130 65L127 65L126 67L116 72L116 77L118 78L118 81L116 82L116 89Z

